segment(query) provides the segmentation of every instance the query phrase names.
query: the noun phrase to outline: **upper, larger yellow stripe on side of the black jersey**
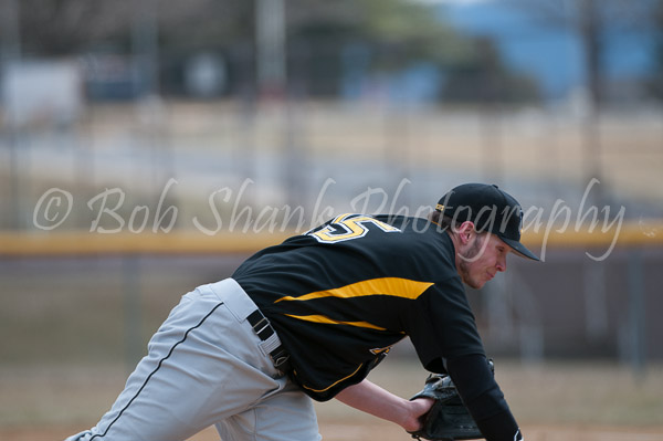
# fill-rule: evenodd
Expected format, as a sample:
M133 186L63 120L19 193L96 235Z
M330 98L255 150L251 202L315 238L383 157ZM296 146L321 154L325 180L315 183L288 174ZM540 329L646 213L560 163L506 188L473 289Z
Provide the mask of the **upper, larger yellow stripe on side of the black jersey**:
M299 297L292 297L288 295L278 298L274 303L282 301L304 302L322 297L351 298L361 297L366 295L391 295L394 297L414 300L421 294L423 294L423 292L428 290L431 285L433 285L433 283L431 282L418 282L401 277L370 279L367 281L351 283L349 285L337 287L334 290L325 290L305 294Z

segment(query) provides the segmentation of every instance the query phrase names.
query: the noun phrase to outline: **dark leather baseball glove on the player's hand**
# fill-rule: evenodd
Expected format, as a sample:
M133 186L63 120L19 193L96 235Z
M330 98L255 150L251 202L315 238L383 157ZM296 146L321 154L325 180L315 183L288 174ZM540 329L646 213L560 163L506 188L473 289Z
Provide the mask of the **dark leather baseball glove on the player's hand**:
M493 363L491 361L491 368ZM424 414L421 429L409 432L418 440L455 441L484 438L476 422L461 401L451 377L431 374L419 393L411 398L432 398L431 410Z

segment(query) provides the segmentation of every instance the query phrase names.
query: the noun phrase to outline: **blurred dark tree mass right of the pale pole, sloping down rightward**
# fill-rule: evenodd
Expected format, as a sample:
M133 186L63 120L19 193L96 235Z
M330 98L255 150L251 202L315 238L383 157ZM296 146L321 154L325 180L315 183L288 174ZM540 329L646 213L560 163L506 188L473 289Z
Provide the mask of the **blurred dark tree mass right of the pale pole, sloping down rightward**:
M491 41L460 34L425 2L317 0L293 9L291 55L302 54L316 71L308 75L309 83L318 80L308 84L314 94L338 93L338 82L326 77L339 75L349 48L350 63L367 63L372 72L389 74L421 62L439 67L444 101L538 99L535 82L511 72Z

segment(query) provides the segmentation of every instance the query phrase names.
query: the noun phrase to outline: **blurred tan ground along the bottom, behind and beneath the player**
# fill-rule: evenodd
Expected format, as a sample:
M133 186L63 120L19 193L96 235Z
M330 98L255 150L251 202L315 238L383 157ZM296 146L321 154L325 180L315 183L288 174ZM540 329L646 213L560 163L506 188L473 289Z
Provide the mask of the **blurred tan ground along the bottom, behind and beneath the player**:
M371 372L373 382L402 397L420 389L425 372L418 365L389 361ZM662 366L642 376L604 363L498 366L497 379L528 441L663 441ZM125 375L122 365L0 367L0 440L63 440L94 426ZM410 439L399 427L339 401L315 407L325 441ZM190 441L218 440L210 428Z

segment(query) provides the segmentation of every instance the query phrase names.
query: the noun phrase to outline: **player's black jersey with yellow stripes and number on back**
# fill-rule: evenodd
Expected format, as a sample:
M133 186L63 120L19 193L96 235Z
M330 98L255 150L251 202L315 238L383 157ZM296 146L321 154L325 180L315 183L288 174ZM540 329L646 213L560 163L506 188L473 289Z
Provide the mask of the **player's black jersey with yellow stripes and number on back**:
M425 219L341 214L246 260L232 275L316 400L360 382L409 336L423 366L484 355L445 232Z

